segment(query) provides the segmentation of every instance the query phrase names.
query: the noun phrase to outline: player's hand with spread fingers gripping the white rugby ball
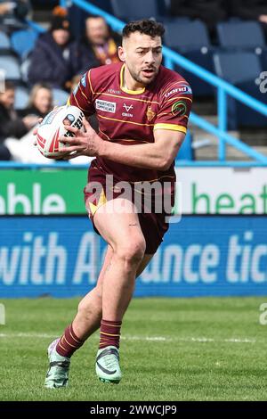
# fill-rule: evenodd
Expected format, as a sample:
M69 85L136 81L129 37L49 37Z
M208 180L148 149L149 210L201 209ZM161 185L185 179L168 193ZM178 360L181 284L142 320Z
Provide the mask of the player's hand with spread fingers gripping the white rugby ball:
M73 137L61 136L60 138L61 143L69 144L61 148L61 152L68 153L64 156L64 160L74 159L77 156L95 157L99 154L102 143L100 136L96 134L85 118L83 119L83 123L85 132L77 127L64 125L68 131L75 135Z

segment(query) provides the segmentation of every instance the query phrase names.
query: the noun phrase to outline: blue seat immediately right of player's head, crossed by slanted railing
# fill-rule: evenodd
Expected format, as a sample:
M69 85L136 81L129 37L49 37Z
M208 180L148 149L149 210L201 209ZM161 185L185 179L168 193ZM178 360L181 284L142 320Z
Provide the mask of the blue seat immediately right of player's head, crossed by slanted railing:
M190 61L214 72L213 53L206 25L202 21L166 22L165 43ZM195 96L214 95L214 88L192 73L176 68L190 83Z

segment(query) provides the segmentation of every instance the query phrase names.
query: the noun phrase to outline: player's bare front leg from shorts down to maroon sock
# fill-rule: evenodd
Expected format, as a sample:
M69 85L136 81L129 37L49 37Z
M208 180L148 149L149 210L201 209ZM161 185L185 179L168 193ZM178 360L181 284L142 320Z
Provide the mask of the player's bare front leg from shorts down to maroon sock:
M124 212L117 213L114 205L124 208ZM95 213L94 224L113 250L102 284L102 316L121 321L134 292L145 240L131 201L117 199L107 202Z

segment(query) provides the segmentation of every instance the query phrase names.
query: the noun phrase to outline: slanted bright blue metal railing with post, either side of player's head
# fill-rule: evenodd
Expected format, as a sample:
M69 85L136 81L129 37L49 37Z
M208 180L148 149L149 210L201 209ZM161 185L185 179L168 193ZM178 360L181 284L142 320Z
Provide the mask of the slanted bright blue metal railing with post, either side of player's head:
M103 16L105 20L109 23L109 26L117 32L121 32L123 27L125 26L125 22L120 21L116 17L112 16L108 12L101 10L99 7L90 4L85 0L61 0L61 5L63 7L68 7L69 4L75 4L78 7L82 8L86 12L90 12L92 14L98 14ZM194 62L190 62L187 58L183 57L179 53L175 53L170 48L166 46L163 48L163 54L165 57L165 65L167 68L173 70L174 64L180 65L183 69L190 71L191 73L198 76L205 80L207 83L213 85L218 89L217 94L217 110L218 110L218 127L214 126L213 124L206 121L206 119L199 117L194 112L190 113L190 122L197 127L200 127L210 134L216 136L219 140L219 147L218 147L218 160L222 163L225 161L226 157L226 144L229 144L240 152L244 152L247 156L255 159L260 163L267 164L267 157L265 157L262 153L256 152L252 147L247 144L244 144L239 139L231 136L227 132L227 95L230 95L234 99L238 100L241 103L245 103L245 105L249 106L250 108L254 109L262 113L265 117L267 117L267 105L264 103L256 100L254 97L250 96L242 92L239 88L232 86L227 81L224 81L222 78L218 78L213 73L203 69L202 67L198 66ZM267 124L267 119L266 119Z

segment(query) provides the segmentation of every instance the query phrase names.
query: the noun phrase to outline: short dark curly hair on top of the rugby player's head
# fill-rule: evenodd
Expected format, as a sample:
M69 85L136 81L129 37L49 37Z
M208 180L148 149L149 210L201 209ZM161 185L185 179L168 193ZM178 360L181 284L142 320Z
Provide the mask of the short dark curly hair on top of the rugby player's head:
M134 32L140 32L150 37L163 37L165 33L164 26L157 21L145 19L143 21L130 21L123 29L122 37L130 37Z

